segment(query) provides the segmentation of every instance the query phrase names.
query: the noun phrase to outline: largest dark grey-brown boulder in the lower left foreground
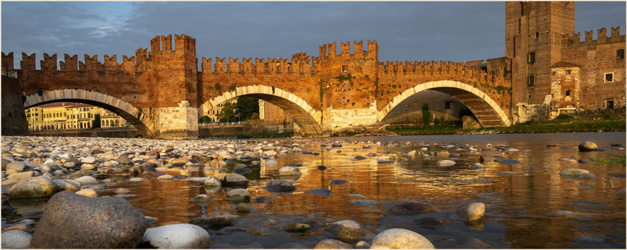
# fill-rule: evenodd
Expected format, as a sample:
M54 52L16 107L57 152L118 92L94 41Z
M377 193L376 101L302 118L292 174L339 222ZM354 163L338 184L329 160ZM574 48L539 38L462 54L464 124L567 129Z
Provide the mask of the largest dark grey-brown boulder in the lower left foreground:
M34 231L32 248L136 248L147 220L124 198L89 198L59 192L50 198Z

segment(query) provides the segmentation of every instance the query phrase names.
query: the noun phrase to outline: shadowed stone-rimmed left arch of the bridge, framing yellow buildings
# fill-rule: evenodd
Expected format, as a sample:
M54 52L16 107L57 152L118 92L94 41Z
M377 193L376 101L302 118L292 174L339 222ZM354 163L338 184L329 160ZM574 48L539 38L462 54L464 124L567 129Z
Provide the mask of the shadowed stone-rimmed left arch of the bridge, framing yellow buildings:
M51 102L80 102L99 106L108 111L112 111L116 115L124 118L124 120L130 122L130 124L133 124L143 137L152 137L154 135L154 123L150 120L150 117L128 102L95 91L86 91L83 89L41 91L28 95L24 102L24 108L28 109L32 106Z

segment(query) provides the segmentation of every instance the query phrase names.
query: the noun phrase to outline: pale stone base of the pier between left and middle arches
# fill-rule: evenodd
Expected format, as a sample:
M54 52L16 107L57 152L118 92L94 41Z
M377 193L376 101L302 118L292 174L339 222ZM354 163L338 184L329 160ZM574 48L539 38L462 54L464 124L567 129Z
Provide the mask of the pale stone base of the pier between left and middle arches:
M163 139L198 139L198 108L181 101L178 106L153 109L154 136Z

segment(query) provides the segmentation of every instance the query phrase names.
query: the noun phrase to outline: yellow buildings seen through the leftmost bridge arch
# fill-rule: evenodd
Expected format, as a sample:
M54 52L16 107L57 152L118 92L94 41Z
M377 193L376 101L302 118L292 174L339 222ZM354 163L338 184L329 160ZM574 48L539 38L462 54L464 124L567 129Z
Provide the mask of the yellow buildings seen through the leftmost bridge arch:
M96 115L101 117L101 127L127 126L126 120L105 109L88 104L61 102L43 104L26 109L30 130L63 130L92 128Z

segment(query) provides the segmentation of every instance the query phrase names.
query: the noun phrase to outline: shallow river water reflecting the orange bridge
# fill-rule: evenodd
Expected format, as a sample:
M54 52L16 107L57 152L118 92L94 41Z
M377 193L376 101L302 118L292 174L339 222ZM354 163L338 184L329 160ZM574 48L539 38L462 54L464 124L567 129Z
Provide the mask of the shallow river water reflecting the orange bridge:
M477 238L495 248L624 249L625 167L619 163L573 163L558 159L613 159L616 157L612 155L625 155L625 135L621 132L278 139L282 145L298 143L303 150L319 155L289 152L279 155L278 164L273 167L265 166L263 160L258 165L236 161L252 170L243 175L250 181L247 190L253 198L250 205L254 209L238 214L243 217L234 224L240 228L238 230L207 227L213 240L210 247L311 248L327 238L323 234L325 225L337 220L356 220L374 234L390 228L418 232L437 248L466 248L466 240ZM343 146L331 148L331 140L342 141ZM579 152L577 145L586 140L594 141L599 150ZM380 146L377 141L381 142ZM518 151L498 150L497 146ZM424 160L420 155L401 155L423 147L431 152L448 150L451 153L448 157L455 158L456 165L438 167L438 160L447 157ZM369 153L378 156L351 161L357 155ZM388 154L396 154L399 159L389 164L377 162L378 157ZM496 155L520 163L504 164L487 158L483 163L486 168L469 168L479 161L480 155ZM302 176L294 181L297 190L283 195L265 190L267 183L276 179L275 172L290 164L302 165ZM326 166L327 170L318 170L318 166ZM234 164L226 167L233 170ZM561 177L559 172L567 168L582 168L597 178L582 181ZM515 174L502 176L502 172ZM219 172L216 166L205 166L172 168L166 173L220 177L228 172ZM347 183L332 185L333 180ZM205 190L200 181L149 178L128 182L123 177L114 181L115 185L99 195L114 196L117 188L127 188L131 194L125 197L127 201L146 216L157 218L150 227L187 223L201 216L237 214L234 204L227 202L225 190ZM332 193L322 196L306 192L318 188L327 188ZM212 201L206 205L194 203L192 198L198 194L207 194ZM257 202L255 198L259 197L267 199L263 202L257 199ZM376 203L355 203L361 199ZM388 211L393 205L406 201L431 203L442 213L416 215ZM454 211L471 202L484 203L486 212L483 220L468 224L454 216ZM31 213L10 220L37 220L39 216L41 214ZM420 225L418 222L425 217L440 220L442 225ZM306 233L283 230L285 225L305 220L314 224Z

